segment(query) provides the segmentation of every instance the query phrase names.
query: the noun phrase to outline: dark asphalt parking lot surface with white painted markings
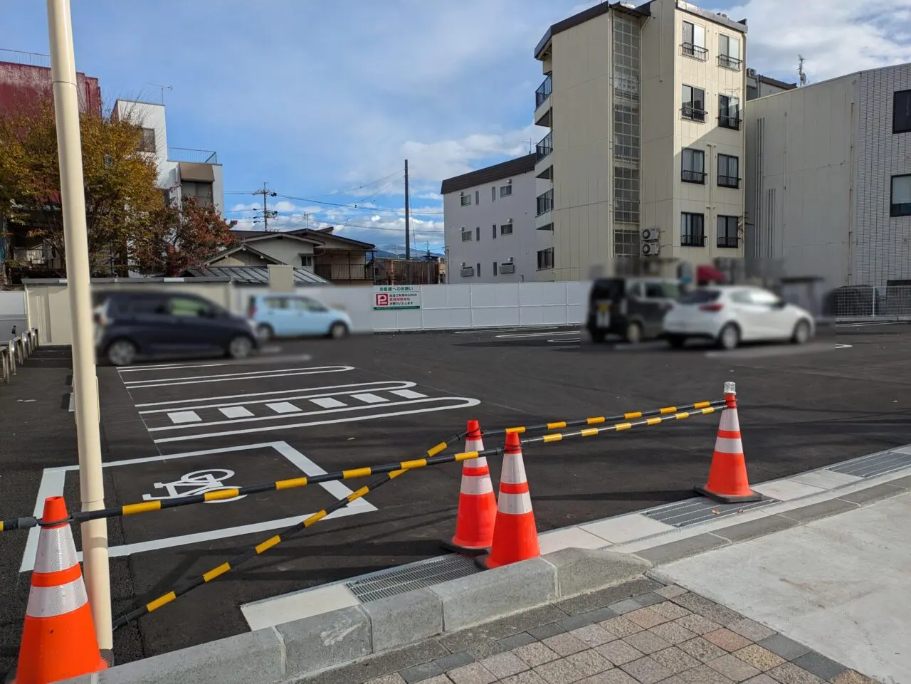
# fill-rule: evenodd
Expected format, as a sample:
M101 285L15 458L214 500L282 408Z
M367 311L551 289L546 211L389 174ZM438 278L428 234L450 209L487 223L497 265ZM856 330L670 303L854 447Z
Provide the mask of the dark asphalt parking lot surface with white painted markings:
M99 368L107 505L415 458L468 419L493 429L719 399L726 381L737 383L754 482L908 443L908 327L840 332L847 334L801 348L734 352L671 351L651 342L589 345L578 332L559 328L374 335L282 343L277 353L248 362ZM72 414L56 410L71 422ZM689 497L708 473L717 428L717 416L709 415L529 446L538 529ZM59 446L45 447L69 449L67 458L50 454L30 467L42 497L63 491L75 508L73 431L67 430ZM0 455L13 457L2 447ZM28 459L15 457L28 467ZM496 483L496 460L491 470ZM118 661L246 630L243 603L438 555L440 540L455 529L460 475L458 465L408 473L141 618L138 628L118 630ZM113 519L116 613L363 484L310 485ZM24 491L11 505L0 504L3 516L35 507L37 482L19 488ZM20 571L30 568L35 539L5 544L4 556L17 556L0 567L7 582L25 586L25 595L27 575ZM21 624L15 609L3 624L12 625L16 615ZM15 626L5 629L5 644L14 632Z

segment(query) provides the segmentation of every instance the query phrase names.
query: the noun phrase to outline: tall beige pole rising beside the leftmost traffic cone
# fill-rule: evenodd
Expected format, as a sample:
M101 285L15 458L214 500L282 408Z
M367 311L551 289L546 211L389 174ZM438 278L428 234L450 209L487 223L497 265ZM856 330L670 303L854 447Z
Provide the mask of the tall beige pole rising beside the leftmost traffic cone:
M94 511L104 508L105 487L101 470L101 416L95 373L76 56L73 50L73 19L69 0L47 0L47 30L51 43L57 155L60 158L60 196L67 248L67 293L73 329L73 390L76 394L79 493L82 510ZM110 651L113 632L110 571L107 565L107 519L90 520L82 524L82 557L98 647Z

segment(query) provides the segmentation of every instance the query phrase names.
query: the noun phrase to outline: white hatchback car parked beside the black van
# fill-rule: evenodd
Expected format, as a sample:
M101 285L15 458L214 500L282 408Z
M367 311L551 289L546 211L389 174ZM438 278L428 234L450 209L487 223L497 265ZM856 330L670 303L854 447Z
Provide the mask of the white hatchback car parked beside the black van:
M715 285L687 292L663 322L664 337L681 348L688 339L714 340L722 349L741 342L803 344L815 333L813 315L774 292L747 285Z

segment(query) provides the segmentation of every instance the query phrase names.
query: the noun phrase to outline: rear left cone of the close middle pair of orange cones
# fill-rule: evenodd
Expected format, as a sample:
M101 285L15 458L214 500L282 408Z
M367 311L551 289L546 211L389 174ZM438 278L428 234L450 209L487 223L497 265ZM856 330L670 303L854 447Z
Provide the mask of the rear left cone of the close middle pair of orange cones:
M468 421L466 452L484 451L481 426ZM487 459L468 459L462 466L462 486L458 495L458 515L455 518L455 536L443 547L456 553L477 556L494 542L496 522L496 495L490 479Z

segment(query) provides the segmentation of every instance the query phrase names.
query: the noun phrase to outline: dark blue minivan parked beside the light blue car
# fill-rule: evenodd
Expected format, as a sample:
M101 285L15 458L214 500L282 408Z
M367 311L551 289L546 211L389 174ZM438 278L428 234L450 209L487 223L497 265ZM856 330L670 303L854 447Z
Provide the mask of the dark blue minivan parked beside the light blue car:
M185 292L107 292L95 307L98 359L221 356L243 359L259 348L251 322Z

